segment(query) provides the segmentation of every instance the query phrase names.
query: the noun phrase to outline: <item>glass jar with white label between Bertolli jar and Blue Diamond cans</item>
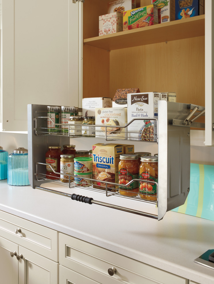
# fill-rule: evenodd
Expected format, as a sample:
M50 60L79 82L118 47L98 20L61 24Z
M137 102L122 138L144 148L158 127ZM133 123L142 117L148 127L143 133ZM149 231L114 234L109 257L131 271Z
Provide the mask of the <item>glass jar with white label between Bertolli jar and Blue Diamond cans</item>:
M60 181L69 182L69 176L74 175L74 155L63 154L60 155ZM73 180L74 177L70 176L70 180Z

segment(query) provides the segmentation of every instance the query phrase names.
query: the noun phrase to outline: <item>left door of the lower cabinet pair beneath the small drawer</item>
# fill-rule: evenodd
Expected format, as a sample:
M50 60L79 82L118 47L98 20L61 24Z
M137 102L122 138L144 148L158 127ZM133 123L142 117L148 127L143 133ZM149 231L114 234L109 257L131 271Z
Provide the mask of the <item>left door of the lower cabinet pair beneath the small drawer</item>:
M0 283L18 284L18 260L10 252L18 252L18 245L0 237Z

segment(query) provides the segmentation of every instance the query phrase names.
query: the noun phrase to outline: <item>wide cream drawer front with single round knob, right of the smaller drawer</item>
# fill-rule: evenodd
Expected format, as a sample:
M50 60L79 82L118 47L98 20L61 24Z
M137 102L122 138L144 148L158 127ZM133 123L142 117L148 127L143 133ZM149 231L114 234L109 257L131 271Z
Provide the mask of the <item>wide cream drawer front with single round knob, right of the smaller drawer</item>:
M187 284L188 280L171 273L162 271L150 265L100 248L77 238L59 234L59 262L78 273L90 277L89 269L95 274L95 281L99 283L120 283L127 281L133 284ZM108 269L114 267L116 273L108 275ZM83 273L84 271L84 273ZM108 281L102 282L102 276L108 277Z

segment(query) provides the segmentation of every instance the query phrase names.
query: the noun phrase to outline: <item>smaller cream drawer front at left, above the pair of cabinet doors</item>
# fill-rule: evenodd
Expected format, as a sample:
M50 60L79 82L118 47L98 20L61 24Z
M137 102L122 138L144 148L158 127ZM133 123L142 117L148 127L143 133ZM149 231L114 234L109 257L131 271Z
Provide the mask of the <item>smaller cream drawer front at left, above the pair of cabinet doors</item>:
M20 232L15 230L21 229ZM0 211L0 236L58 262L58 232Z

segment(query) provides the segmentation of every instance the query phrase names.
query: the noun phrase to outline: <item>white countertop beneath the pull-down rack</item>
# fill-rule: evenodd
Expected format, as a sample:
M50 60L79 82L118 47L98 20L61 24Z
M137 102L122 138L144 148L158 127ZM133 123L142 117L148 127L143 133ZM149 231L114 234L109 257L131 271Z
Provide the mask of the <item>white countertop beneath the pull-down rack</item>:
M51 188L112 202L112 197L84 189L69 189L53 183ZM2 211L186 279L201 284L214 283L214 270L194 262L207 250L214 249L213 221L173 211L167 212L163 220L157 221L96 204L72 201L68 197L33 189L31 186L10 186L7 180L0 181L0 192ZM113 199L119 205L124 202L118 197ZM152 213L156 211L154 205L135 203L137 210L143 206L151 208Z

